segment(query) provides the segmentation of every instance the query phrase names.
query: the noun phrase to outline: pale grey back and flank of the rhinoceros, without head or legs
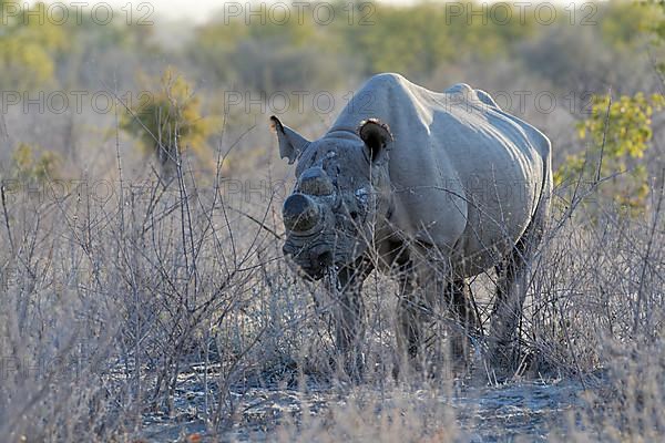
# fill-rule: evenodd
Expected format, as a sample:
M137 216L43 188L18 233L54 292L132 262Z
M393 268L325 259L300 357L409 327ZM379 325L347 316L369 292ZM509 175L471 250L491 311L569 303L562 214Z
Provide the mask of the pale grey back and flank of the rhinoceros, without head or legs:
M354 131L367 119L390 126L390 225L460 264L487 269L523 234L550 177L550 142L460 83L428 91L398 74L371 78L329 131Z

